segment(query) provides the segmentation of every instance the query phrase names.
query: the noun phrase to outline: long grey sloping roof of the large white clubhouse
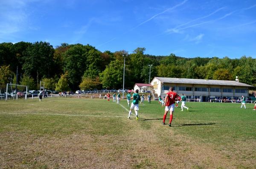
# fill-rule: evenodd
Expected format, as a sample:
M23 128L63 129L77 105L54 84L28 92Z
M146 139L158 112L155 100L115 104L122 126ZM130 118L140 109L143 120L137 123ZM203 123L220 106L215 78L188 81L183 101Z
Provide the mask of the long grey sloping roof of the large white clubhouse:
M205 80L205 79L184 79L184 78L169 78L169 77L154 77L164 83L185 83L185 84L205 84L205 85L223 85L223 86L246 86L251 85L240 83L232 80Z

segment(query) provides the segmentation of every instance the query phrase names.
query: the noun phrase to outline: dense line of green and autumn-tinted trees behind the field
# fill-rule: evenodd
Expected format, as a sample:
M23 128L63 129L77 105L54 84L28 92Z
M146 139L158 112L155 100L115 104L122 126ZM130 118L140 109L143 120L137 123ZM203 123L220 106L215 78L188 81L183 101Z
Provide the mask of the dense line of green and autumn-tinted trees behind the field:
M186 58L175 54L154 56L144 54L145 48L132 53L124 50L100 52L93 46L62 43L53 48L48 42L0 43L0 89L6 83L57 91L77 89L122 88L125 59L125 88L134 83L148 83L149 70L154 77L235 80L256 86L256 59ZM151 68L148 65L152 65Z

